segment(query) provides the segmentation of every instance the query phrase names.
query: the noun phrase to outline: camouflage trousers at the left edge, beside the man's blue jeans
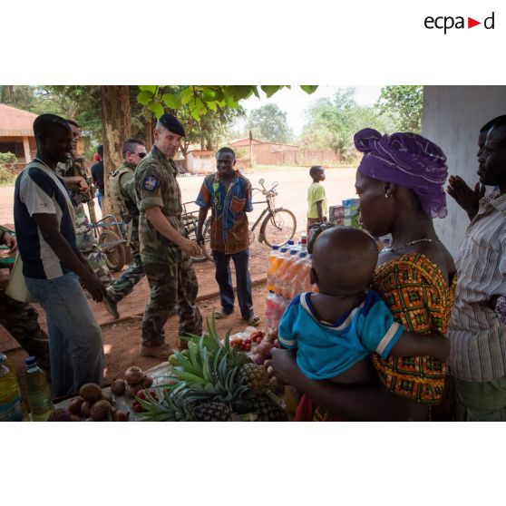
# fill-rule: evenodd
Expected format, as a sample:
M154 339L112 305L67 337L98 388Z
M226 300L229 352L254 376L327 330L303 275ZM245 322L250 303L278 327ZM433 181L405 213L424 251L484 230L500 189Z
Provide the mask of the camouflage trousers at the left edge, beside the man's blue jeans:
M49 338L39 325L39 314L33 306L0 292L0 325L49 372Z

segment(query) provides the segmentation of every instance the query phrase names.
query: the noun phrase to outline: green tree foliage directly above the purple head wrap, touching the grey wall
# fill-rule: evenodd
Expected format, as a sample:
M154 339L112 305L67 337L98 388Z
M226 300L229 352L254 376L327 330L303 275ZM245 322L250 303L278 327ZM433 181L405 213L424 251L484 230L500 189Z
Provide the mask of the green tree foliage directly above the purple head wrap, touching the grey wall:
M384 86L375 107L395 131L422 131L423 86Z

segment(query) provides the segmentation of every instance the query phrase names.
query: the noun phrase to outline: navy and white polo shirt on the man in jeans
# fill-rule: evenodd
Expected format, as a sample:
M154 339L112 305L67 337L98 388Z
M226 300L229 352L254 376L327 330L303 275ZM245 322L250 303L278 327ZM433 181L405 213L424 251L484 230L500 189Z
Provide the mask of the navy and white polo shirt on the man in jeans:
M25 277L53 279L71 269L44 240L34 214L54 214L60 233L77 253L73 207L62 178L42 163L26 166L15 181L15 233Z

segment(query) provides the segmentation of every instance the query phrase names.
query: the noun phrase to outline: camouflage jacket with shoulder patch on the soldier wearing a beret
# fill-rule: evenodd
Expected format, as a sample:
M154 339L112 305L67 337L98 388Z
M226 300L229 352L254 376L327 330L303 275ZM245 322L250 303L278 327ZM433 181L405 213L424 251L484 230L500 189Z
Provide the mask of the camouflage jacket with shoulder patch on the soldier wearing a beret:
M186 237L181 219L181 192L176 180L178 169L156 146L135 170L135 194L139 205L139 239L142 263L165 263L183 259L182 250L164 238L144 216L146 209L161 208L170 225Z

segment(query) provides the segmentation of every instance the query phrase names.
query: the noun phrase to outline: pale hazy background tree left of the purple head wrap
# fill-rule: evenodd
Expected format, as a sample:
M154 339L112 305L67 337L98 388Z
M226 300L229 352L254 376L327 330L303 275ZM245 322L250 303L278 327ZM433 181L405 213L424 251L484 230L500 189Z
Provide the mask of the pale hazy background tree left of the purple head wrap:
M353 137L363 128L390 131L388 119L381 118L373 107L355 102L355 89L340 89L330 98L314 102L306 112L307 122L300 142L306 148L330 149L350 162L356 156Z

